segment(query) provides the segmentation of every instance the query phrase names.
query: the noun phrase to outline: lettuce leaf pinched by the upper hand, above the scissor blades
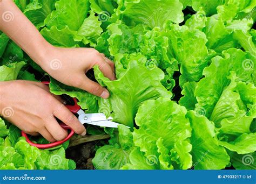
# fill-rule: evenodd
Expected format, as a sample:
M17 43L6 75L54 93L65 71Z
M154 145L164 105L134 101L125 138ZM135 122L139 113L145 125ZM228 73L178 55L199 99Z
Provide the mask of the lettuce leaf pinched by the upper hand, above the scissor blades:
M133 119L139 106L146 100L156 99L160 96L171 98L172 94L160 83L164 79L164 73L159 68L147 69L139 65L137 61L131 61L122 77L116 81L110 81L96 69L96 79L102 81L110 91L110 98L99 104L100 110L109 115L113 121L133 127ZM139 73L139 79L135 78ZM109 104L103 105L103 104Z

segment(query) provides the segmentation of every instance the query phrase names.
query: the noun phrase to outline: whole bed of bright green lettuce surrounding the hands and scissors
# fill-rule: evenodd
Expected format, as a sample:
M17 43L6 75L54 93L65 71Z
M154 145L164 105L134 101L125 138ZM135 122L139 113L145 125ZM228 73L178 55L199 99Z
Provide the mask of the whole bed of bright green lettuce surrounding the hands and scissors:
M255 0L15 2L52 45L94 47L114 61L117 80L97 66L91 77L107 100L50 83L53 94L123 124L87 129L111 137L97 147L96 169L256 168ZM36 80L28 66L44 73L8 40L0 32L0 81ZM68 143L38 150L20 136L0 120L1 169L75 168Z

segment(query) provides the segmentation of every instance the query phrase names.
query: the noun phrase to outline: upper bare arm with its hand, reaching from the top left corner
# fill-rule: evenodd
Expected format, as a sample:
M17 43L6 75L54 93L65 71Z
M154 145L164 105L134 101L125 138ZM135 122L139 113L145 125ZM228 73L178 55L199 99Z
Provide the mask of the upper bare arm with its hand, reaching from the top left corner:
M85 73L98 65L110 80L114 76L114 64L94 48L60 48L49 44L13 1L3 1L0 15L12 12L15 19L5 22L0 19L0 30L6 33L30 58L56 80L77 87L94 95L107 98L109 92ZM22 27L23 29L17 29Z

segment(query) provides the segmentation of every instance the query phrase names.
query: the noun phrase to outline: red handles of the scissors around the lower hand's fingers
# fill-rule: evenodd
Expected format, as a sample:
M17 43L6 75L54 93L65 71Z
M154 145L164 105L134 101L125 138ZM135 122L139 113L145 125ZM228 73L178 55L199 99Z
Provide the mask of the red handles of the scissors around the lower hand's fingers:
M44 84L46 84L46 85L49 85L49 84L50 84L50 82L48 82L48 81L44 81L44 82L42 82L42 83L44 83ZM74 103L75 103L74 105L65 105L65 107L67 107L73 114L76 114L76 113L80 110L80 107L79 107L79 105L77 104L77 99L76 99L76 98L73 98L73 101L74 101ZM59 125L60 125L63 129L65 129L65 130L71 130L71 131L70 131L69 135L68 135L65 139L56 141L56 142L54 142L54 143L49 143L49 144L36 144L36 143L33 143L33 142L29 139L28 135L26 135L26 133L25 133L24 131L22 131L21 133L22 133L22 136L26 138L26 141L27 141L31 146L36 146L36 147L38 147L39 149L46 149L46 148L56 147L56 146L58 146L58 145L60 145L60 144L65 143L65 141L69 140L69 139L74 135L74 133L75 133L75 132L70 128L70 126L68 126L68 125L66 125L66 124L64 124L64 123L59 123Z

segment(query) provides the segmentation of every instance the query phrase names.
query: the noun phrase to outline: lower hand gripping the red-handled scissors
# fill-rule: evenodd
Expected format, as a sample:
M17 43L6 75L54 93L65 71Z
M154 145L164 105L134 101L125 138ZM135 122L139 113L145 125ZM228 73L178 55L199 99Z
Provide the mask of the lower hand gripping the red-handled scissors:
M63 140L67 132L58 124L57 117L76 133L86 134L76 116L41 82L0 82L0 96L1 116L25 133L33 136L41 134L51 142Z

